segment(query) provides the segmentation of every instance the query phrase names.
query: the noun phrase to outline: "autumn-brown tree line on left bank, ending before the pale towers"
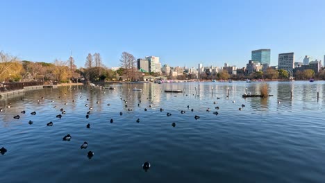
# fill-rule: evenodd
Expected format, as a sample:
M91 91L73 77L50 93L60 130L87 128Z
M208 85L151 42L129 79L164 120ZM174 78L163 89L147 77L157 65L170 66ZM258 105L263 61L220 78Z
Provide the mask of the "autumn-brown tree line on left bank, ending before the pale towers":
M136 69L135 57L123 52L117 71L108 69L102 62L100 53L89 53L85 67L76 68L74 58L47 62L19 60L17 57L0 51L0 81L57 81L57 82L99 82L114 80L140 80L142 76Z

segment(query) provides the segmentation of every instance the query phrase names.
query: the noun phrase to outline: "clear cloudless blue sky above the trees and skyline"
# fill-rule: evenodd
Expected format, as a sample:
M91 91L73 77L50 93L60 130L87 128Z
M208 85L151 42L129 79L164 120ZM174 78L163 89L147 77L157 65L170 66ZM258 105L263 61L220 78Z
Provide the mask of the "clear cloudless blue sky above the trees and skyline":
M323 60L324 0L0 0L0 51L21 60L53 62L72 55L84 67L101 53L118 67L123 51L162 64L245 67L255 49Z

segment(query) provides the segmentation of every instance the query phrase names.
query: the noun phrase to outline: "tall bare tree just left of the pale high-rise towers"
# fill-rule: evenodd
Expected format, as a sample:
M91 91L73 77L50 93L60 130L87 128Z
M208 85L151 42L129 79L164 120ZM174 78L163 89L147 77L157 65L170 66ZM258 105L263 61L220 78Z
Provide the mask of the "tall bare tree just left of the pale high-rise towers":
M131 53L123 52L121 55L121 67L124 69L124 74L130 78L135 78L135 57Z

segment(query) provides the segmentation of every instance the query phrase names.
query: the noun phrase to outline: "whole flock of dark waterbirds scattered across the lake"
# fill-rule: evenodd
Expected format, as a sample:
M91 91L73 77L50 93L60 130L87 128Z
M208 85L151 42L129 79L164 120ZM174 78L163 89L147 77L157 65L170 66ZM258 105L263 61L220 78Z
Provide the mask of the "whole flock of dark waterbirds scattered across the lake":
M67 94L65 94L65 96L67 96ZM188 95L186 95L186 96L188 96ZM227 97L228 97L228 96L227 96ZM58 98L61 98L61 96L58 96ZM83 96L80 96L80 99L82 99L82 98L83 98ZM122 96L121 96L120 99L122 100ZM124 101L124 104L125 104L124 107L128 107L128 105L126 105L126 103L128 103L127 99L128 99L128 98L126 98L126 99L123 100L123 101ZM147 98L147 100L148 100L148 99L149 99L149 98ZM217 98L217 99L220 99L220 98ZM44 97L41 97L41 100L44 101L45 98L44 98ZM41 100L38 100L37 103L38 103L38 104L42 104ZM87 98L86 100L89 101L88 98ZM73 100L72 102L75 103L76 101ZM51 103L54 103L54 100L53 100L53 99L51 100ZM97 101L96 103L97 103L97 104L100 104L99 101ZM140 107L140 103L142 103L141 100L140 100L139 103L138 103L138 107ZM233 101L233 103L235 103L235 101ZM278 103L280 103L280 102L278 101ZM213 104L216 105L217 102L214 101ZM58 105L59 105L59 104L58 104ZM68 105L68 103L65 102L64 105ZM107 106L110 106L110 103L108 103ZM56 107L57 107L57 105L55 105L53 108L56 108ZM88 103L85 104L85 107L88 107ZM149 108L152 108L152 105L149 105L148 107L149 107ZM245 107L245 105L242 104L241 107L239 108L239 110L242 110L244 107ZM6 108L11 108L11 105L6 106ZM188 110L190 110L190 105L187 105L187 108L188 108ZM219 106L216 106L216 107L215 107L215 110L219 110L219 109L220 109ZM86 119L89 119L89 118L90 118L90 114L92 114L92 112L90 112L90 110L93 110L93 107L89 107L88 110L89 110L89 111L88 111L88 112L86 113L86 115L85 115L85 118L86 118ZM128 111L130 112L130 111L132 111L132 109L131 109L131 108L128 108ZM147 108L144 108L144 111L148 111ZM160 112L163 112L163 111L165 111L165 110L164 110L163 108L160 108L159 111L160 111ZM191 111L191 112L194 112L194 109L191 108L190 111ZM3 108L0 108L0 112L3 112ZM58 119L61 119L61 118L63 117L62 114L66 114L66 111L65 111L63 108L60 108L60 112L61 112L61 114L56 115L56 118L58 118ZM181 112L181 114L185 114L185 110L181 110L180 112ZM206 112L210 112L210 107L208 107L208 108L206 109ZM26 114L26 110L23 110L23 111L20 112L20 113L21 113L21 114ZM37 114L37 112L35 112L35 111L31 112L31 115L36 115L36 114ZM213 114L217 115L217 114L219 114L219 112L215 111L215 112L213 112ZM122 116L122 115L123 115L123 112L119 112L119 115ZM167 112L167 116L172 116L172 113L171 113L171 112ZM20 116L19 116L19 115L13 116L13 119L17 119L17 120L19 120L19 119L20 119ZM200 116L198 116L198 115L194 115L194 119L195 119L195 121L197 121L197 120L200 119ZM114 121L113 119L110 119L110 123L113 123L113 121ZM138 119L136 120L136 122L137 122L137 123L140 123L140 119L138 118ZM28 121L28 124L29 124L29 125L32 125L32 124L33 124L33 121L29 120L29 121ZM50 121L49 123L47 123L47 126L53 126L53 122ZM173 127L173 128L176 127L176 123L175 123L175 122L172 123L172 127ZM86 128L90 128L90 123L88 123L88 124L86 125ZM70 134L67 134L67 135L65 135L65 136L63 137L63 141L70 141L70 140L72 140L72 136L71 136ZM81 149L86 149L86 148L88 148L88 142L84 141L83 144L81 145ZM6 148L4 148L4 147L2 147L2 148L0 149L0 153L1 153L1 155L5 155L5 154L7 153L7 151L8 151L8 150L7 150ZM88 151L88 153L87 153L87 157L88 157L89 159L92 159L92 157L94 157L94 153L93 153L91 150ZM151 167L151 164L150 164L149 162L144 162L144 164L142 165L142 168L143 168L144 171L146 171L146 172L149 170L150 167Z

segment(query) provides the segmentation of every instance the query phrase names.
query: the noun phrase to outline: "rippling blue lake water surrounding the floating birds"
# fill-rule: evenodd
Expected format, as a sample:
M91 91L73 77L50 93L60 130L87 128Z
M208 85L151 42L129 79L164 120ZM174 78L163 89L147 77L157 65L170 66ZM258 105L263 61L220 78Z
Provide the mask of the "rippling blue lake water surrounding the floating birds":
M246 88L259 93L264 83L274 96L242 98ZM8 151L0 154L0 182L325 181L325 82L114 87L59 87L1 98L0 148ZM66 111L62 119L56 118L60 108ZM17 114L20 119L13 119ZM50 121L53 126L47 126ZM66 134L71 141L63 141ZM87 149L80 148L84 141ZM90 150L92 159L87 157ZM151 168L146 172L142 164L147 161Z

